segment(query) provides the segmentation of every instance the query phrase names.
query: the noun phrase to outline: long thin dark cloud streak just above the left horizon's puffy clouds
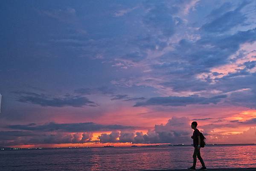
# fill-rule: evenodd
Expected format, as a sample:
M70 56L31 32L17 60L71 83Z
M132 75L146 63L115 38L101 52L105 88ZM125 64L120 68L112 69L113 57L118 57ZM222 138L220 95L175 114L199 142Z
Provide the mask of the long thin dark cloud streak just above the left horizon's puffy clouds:
M9 125L8 128L17 130L34 130L34 131L61 131L61 132L88 132L98 130L124 130L135 129L136 127L123 125L100 125L93 122L58 124L48 123L45 125Z

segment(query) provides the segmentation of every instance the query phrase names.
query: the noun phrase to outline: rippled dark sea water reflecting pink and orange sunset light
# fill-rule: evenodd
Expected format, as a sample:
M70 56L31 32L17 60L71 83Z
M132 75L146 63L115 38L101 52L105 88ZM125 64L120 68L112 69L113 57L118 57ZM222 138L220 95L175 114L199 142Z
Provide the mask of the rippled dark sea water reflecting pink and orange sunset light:
M192 153L192 146L0 151L0 171L181 169L192 166ZM207 168L256 168L256 145L207 146L201 156Z

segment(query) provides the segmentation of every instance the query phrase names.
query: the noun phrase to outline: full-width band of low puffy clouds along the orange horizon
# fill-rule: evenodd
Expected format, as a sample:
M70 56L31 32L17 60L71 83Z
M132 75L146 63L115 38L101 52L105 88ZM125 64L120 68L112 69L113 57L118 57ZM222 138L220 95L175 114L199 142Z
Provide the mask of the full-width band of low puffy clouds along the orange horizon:
M208 119L208 118L207 118ZM200 120L200 119L198 119ZM202 120L202 119L201 119ZM15 131L0 131L0 145L24 145L24 144L65 144L65 143L134 143L134 144L155 144L155 143L192 143L190 138L192 129L190 127L191 120L187 117L175 117L169 119L166 124L155 125L154 129L148 130L147 133L134 132L131 127L120 127L116 125L105 125L102 128L93 128L92 123L88 124L88 128L72 129L72 125L55 125L52 129L40 128L35 124L21 127L17 125L10 126L12 129L19 129ZM254 138L239 140L243 136L253 136L256 133L255 128L250 128L241 134L224 135L221 132L216 133L215 128L237 128L238 125L255 125L256 119L248 119L244 122L234 121L230 124L208 124L200 126L203 130L201 132L207 136L208 143L217 142L234 142L234 143L253 143ZM49 126L49 125L45 125ZM36 127L36 128L27 128ZM92 127L92 128L89 128ZM26 131L20 131L26 130ZM42 131L40 131L42 130ZM58 131L57 131L58 130ZM93 140L93 131L111 130L110 134L102 133ZM217 138L216 138L217 137Z

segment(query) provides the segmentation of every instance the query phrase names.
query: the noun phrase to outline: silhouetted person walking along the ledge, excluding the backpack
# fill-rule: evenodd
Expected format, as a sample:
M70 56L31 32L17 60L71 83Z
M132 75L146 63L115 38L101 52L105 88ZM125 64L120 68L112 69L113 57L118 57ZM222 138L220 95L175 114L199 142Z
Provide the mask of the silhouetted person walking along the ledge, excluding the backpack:
M194 154L193 154L193 166L188 168L191 171L195 171L195 165L196 165L196 158L198 158L202 164L202 168L199 169L199 171L206 171L207 168L204 165L204 160L201 157L200 154L200 144L201 144L201 139L200 139L200 131L196 128L197 127L197 122L192 122L191 123L191 128L194 130L193 135L191 138L193 139L193 146L194 146Z

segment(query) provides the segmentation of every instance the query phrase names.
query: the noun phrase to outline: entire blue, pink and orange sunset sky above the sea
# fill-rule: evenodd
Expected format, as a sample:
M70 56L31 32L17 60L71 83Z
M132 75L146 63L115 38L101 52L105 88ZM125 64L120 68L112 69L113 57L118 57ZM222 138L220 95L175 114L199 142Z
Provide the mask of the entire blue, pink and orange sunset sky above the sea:
M256 143L256 1L4 0L0 146Z

